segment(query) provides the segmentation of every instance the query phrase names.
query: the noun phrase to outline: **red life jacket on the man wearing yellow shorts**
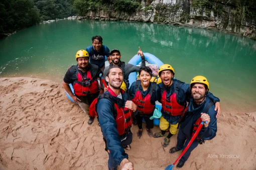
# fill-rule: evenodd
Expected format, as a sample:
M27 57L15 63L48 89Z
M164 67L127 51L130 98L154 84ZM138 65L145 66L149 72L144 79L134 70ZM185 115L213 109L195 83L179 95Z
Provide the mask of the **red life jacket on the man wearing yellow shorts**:
M177 94L179 92L179 87L180 87L181 82L178 82L175 91L173 92L172 95L170 95L169 98L167 98L167 91L161 88L162 93L162 108L165 111L165 113L170 114L172 116L178 116L182 115L184 112L186 112L187 107L185 102L183 105L180 105L177 101L178 97Z

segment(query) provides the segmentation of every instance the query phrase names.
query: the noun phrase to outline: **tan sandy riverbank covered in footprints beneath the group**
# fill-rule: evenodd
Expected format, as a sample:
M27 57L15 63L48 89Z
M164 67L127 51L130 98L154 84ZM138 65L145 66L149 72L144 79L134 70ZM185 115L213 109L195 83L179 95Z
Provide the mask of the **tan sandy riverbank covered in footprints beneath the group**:
M0 78L0 91L0 169L107 169L100 127L87 124L88 116L66 97L62 85ZM225 110L230 109L222 106L217 136L199 145L182 169L256 169L256 108ZM132 127L132 149L126 151L135 169L164 169L179 156L169 153L177 135L163 148L163 138L149 137L145 130L139 139L137 130Z

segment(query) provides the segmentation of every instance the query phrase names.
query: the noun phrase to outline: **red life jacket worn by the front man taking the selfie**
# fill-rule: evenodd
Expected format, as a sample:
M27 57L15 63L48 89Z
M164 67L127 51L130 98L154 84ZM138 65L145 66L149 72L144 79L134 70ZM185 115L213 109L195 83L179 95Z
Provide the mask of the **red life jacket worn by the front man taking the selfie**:
M133 110L130 110L126 107L119 106L116 101L113 99L113 97L116 97L116 94L114 91L111 90L111 88L107 89L109 93L104 92L103 94L99 95L98 98L95 98L93 102L90 105L89 112L91 116L98 116L96 108L97 108L97 102L101 98L107 98L111 101L112 105L114 106L114 118L117 124L117 131L119 135L122 135L130 130L133 124ZM124 93L124 90L121 89L121 93Z

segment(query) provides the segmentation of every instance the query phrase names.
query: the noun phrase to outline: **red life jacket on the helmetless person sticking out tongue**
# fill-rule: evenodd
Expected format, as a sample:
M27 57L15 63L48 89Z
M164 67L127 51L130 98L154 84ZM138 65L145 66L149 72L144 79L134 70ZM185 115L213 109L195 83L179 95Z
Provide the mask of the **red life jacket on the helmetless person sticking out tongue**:
M153 105L150 100L155 93L157 83L156 82L151 82L151 83L153 84L149 93L143 98L142 93L140 91L141 80L136 81L136 85L135 85L136 93L132 101L135 104L137 104L137 109L140 114L149 114L149 113L152 113L155 109L155 104Z

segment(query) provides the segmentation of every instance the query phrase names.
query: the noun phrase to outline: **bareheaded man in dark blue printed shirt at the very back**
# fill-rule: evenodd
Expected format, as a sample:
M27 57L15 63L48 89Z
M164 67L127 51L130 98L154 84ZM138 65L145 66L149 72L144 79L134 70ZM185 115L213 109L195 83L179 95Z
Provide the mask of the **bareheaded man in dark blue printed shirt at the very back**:
M102 37L99 35L93 36L92 45L88 46L85 50L88 51L90 56L90 63L98 65L101 71L104 71L105 68L105 56L109 63L111 59L109 57L110 52L106 45L102 45Z

